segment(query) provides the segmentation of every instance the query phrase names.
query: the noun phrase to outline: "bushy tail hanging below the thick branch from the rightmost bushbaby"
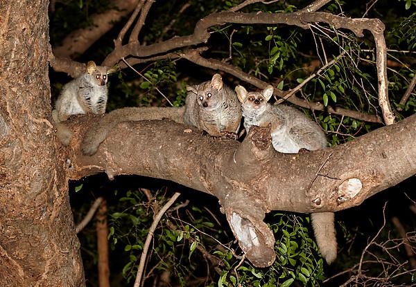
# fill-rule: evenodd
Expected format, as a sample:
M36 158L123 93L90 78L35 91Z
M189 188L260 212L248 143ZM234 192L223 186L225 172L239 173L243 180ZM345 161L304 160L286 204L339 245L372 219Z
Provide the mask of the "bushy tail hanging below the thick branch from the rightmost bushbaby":
M311 214L315 240L322 256L328 264L336 259L336 236L333 212L318 212Z

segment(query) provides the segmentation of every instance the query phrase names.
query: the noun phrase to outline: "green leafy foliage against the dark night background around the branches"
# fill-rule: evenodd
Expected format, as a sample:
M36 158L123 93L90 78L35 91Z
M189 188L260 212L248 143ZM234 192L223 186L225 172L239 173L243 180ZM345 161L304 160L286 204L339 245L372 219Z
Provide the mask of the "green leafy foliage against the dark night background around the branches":
M277 1L264 5L256 3L243 9L244 12L294 12L311 1ZM162 1L156 2L146 19L140 41L153 44L173 36L193 33L196 22L218 10L227 10L241 3L229 1ZM392 4L393 3L393 4ZM347 17L378 17L386 25L386 42L390 49L388 80L392 107L397 118L405 118L415 113L416 98L410 96L406 104L399 101L415 75L414 53L416 48L415 0L375 1L370 8L365 3L351 1L332 1L322 10ZM188 5L189 6L185 6ZM395 5L399 4L399 5ZM89 16L103 12L110 7L110 1L60 1L51 15L51 41L58 45L69 32L91 24ZM184 8L184 10L181 10ZM367 9L368 8L368 9ZM347 12L346 12L347 11ZM156 20L157 19L157 20ZM121 23L121 25L123 25ZM168 29L165 29L168 26ZM112 49L112 39L121 26L116 26L101 39L83 59L107 55ZM375 66L375 47L372 38L365 35L357 38L346 30L335 30L325 24L311 24L310 30L293 26L262 25L224 25L212 27L209 49L204 57L223 60L242 71L270 82L278 89L288 91L303 84L296 94L308 101L321 102L324 107L343 107L352 111L379 114L377 100L377 77ZM331 60L333 59L333 62ZM408 64L410 63L410 64ZM323 67L323 68L322 68ZM110 99L108 110L128 106L166 106L170 101L175 107L184 104L187 84L202 82L211 77L213 71L180 60L163 60L135 65L136 71L125 69L118 77L110 78ZM315 74L315 75L314 75ZM55 77L55 75L53 75ZM230 84L237 79L224 77ZM56 77L53 83L58 90L63 81ZM327 111L304 110L327 131L329 145L340 145L361 136L378 124L370 124L348 116L335 115ZM99 182L99 180L98 180ZM80 188L76 184L77 196L88 192L96 193L101 183L90 182ZM123 275L123 284L134 281L139 256L142 252L148 228L153 221L153 212L164 204L170 192L160 190L153 193L148 201L142 192L137 191L140 184L128 190L107 187L107 194L114 194L110 206L110 242L112 243L111 267ZM182 187L180 187L182 188ZM79 190L80 189L80 190ZM93 190L93 192L91 191ZM117 192L118 191L118 192ZM319 257L318 248L309 237L308 218L291 214L275 213L266 219L277 239L275 250L277 261L270 268L254 268L245 260L241 262L241 250L227 228L227 223L218 211L218 202L210 202L206 196L191 198L186 207L171 210L158 225L151 252L147 261L148 281L159 280L164 272L171 277L171 284L179 286L319 286L324 279L327 266ZM111 196L108 196L109 198ZM84 198L78 199L80 214L87 207ZM82 204L83 203L83 204ZM179 203L178 203L179 204ZM211 205L210 205L211 204ZM376 203L373 203L376 206ZM381 203L377 203L380 206ZM340 260L333 270L351 268L360 260L361 251L367 244L369 232L356 228L361 223L360 214L374 210L373 206L354 210L357 214L345 216L344 224L338 229L340 239ZM398 209L399 210L399 209ZM363 218L371 221L371 215ZM410 216L408 216L410 217ZM81 218L79 215L77 218ZM350 222L349 222L350 221ZM380 221L380 220L379 220ZM371 222L374 232L376 224ZM410 228L415 226L409 223ZM386 240L388 232L382 234ZM361 240L354 250L348 249ZM356 241L354 241L356 240ZM354 249L352 248L352 249ZM86 230L83 234L85 267L94 270L94 232ZM377 254L381 255L382 252ZM400 253L400 252L398 252ZM403 252L402 252L403 253ZM398 255L400 257L400 255ZM404 261L405 259L403 259ZM338 268L338 269L337 269ZM334 272L329 269L329 271ZM380 272L374 267L374 274ZM87 272L88 274L89 272ZM91 272L94 273L94 272ZM147 281L146 281L147 282ZM120 284L119 284L120 285Z

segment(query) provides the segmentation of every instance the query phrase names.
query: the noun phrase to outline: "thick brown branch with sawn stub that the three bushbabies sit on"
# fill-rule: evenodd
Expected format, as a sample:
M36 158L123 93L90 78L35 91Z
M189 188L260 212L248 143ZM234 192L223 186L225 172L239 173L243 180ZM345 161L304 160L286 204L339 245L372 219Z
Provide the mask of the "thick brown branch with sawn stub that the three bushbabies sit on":
M93 121L105 122L110 115L79 117L67 124L79 129L74 134L82 138ZM343 210L416 174L416 115L345 145L300 154L277 153L269 128L251 129L239 143L212 142L193 127L170 120L114 127L94 156L83 156L80 138L73 138L67 171L72 179L96 172L110 178L139 174L212 194L246 256L259 267L275 260L275 239L263 222L270 210Z

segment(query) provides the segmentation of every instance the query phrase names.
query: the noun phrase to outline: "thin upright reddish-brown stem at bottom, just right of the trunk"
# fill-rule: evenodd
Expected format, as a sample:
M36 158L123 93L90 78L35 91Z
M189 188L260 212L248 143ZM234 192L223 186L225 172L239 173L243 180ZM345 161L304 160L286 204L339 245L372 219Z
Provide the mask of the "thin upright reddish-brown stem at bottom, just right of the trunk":
M110 264L108 262L107 201L101 201L96 215L98 282L100 287L110 287Z

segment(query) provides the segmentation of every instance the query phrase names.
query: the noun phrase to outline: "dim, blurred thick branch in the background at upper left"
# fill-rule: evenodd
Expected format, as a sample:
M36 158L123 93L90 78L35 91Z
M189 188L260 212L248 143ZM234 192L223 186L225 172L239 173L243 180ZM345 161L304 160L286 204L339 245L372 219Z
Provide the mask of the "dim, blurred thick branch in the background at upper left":
M62 41L61 46L55 47L53 53L56 57L70 58L82 55L92 44L107 33L117 21L120 21L135 8L138 0L115 0L116 9L91 17L93 26L73 31Z

